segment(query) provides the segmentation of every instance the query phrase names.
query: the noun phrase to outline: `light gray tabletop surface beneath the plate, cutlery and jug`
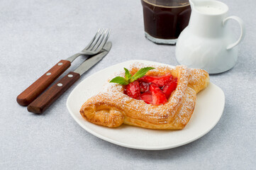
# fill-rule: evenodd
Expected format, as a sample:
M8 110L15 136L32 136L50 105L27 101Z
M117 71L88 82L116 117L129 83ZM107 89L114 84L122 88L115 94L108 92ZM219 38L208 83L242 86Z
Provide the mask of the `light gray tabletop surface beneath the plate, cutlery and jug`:
M243 18L247 34L235 67L211 75L226 95L221 120L188 145L144 151L113 145L80 128L66 108L74 86L43 115L16 103L21 91L53 64L82 50L98 28L112 29L112 50L79 82L126 60L176 65L175 46L145 39L140 1L1 0L0 169L255 169L256 1L224 2L230 14ZM238 35L238 24L228 24Z

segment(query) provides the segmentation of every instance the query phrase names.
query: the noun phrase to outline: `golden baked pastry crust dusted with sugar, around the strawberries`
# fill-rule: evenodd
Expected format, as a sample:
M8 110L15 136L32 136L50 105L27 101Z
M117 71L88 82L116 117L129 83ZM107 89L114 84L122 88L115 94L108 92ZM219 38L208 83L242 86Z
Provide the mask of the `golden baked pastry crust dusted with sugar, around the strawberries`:
M134 125L159 130L180 130L189 123L196 104L196 93L205 89L209 75L203 69L188 69L183 65L167 66L136 63L130 66L135 74L140 68L155 67L146 75L162 76L171 72L177 77L177 88L167 103L154 106L143 100L136 100L123 94L123 86L108 83L105 91L89 98L80 109L83 118L96 125L115 128L120 125ZM119 74L123 76L124 74Z

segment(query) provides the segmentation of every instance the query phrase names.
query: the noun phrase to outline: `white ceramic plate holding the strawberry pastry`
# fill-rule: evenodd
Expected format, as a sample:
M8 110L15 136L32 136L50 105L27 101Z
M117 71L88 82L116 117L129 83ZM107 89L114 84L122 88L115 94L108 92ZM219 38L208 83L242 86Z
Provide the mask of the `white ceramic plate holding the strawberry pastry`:
M183 130L148 130L129 125L121 125L119 128L106 128L94 125L82 118L79 109L88 98L101 91L108 77L129 67L133 62L143 62L145 64L160 64L144 60L131 60L113 65L103 69L78 84L67 98L67 108L74 120L96 137L134 149L160 150L179 147L189 142L199 139L209 132L220 120L225 104L223 91L215 84L209 86L197 94L196 108Z

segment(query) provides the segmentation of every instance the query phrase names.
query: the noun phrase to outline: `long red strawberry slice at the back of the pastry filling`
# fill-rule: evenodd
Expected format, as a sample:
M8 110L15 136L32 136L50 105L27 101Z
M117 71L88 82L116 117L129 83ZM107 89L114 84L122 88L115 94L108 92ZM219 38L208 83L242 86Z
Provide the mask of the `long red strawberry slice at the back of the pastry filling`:
M138 79L138 81L143 81L145 83L154 83L157 86L162 87L167 84L167 82L172 80L172 74L168 73L163 75L162 77L152 77L152 76L144 76Z

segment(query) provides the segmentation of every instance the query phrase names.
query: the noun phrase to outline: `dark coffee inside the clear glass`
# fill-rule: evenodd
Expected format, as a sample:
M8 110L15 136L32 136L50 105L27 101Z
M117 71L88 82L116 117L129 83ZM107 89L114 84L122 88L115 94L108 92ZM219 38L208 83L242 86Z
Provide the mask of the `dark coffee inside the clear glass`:
M156 6L141 0L145 32L154 38L177 39L189 24L191 8L184 6Z

